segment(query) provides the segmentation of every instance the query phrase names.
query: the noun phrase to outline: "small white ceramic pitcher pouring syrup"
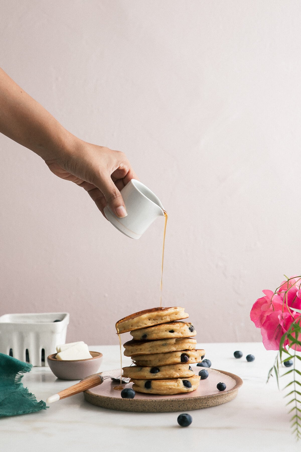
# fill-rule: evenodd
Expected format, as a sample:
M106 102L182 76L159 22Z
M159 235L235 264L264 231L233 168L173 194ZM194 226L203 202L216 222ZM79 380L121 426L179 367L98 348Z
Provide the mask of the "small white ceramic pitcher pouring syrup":
M139 239L157 217L164 217L160 200L139 180L131 179L120 193L127 216L116 217L108 206L104 208L104 212L112 225L131 239Z

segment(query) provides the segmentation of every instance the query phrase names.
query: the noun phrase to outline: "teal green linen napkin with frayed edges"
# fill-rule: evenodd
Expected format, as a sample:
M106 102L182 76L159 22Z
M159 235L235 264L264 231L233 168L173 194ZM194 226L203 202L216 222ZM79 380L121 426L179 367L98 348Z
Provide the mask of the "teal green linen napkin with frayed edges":
M39 402L21 383L23 374L32 364L0 353L0 417L46 410L46 403Z

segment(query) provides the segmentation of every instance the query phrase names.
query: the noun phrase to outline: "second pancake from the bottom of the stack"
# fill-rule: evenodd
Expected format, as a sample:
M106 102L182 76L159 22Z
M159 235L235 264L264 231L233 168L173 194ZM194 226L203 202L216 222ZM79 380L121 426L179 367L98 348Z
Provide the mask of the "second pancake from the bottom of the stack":
M122 367L123 377L134 380L160 380L162 378L184 378L192 377L194 371L189 364L171 364L159 367Z

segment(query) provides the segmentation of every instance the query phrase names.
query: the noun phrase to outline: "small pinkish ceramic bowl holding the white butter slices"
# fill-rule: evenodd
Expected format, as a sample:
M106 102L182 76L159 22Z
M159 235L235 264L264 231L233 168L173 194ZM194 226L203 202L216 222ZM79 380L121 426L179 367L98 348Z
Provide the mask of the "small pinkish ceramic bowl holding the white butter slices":
M102 353L91 352L92 358L59 361L56 353L47 357L48 366L57 378L61 380L82 380L97 373L102 363Z

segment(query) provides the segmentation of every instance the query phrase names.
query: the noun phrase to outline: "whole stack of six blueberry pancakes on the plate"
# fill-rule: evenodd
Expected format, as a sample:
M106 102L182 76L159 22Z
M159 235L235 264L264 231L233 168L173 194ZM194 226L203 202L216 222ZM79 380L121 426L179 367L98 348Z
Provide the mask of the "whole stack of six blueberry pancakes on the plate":
M135 391L167 395L199 386L190 364L202 361L205 351L195 349L194 326L179 321L188 316L181 307L153 308L116 323L119 334L130 331L133 336L124 344L124 354L135 366L123 367L123 376L131 378Z

